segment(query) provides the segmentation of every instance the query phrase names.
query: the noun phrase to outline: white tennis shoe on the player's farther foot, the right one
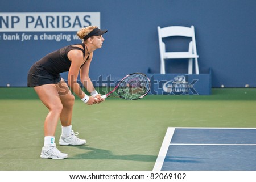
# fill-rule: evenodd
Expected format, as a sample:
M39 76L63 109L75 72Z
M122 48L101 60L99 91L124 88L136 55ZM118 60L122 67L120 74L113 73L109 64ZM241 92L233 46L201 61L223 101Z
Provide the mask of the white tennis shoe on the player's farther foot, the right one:
M79 139L77 137L78 134L79 134L78 132L74 133L74 131L72 130L71 136L69 136L67 138L64 138L61 135L59 144L60 145L84 145L86 143L86 140L85 139Z

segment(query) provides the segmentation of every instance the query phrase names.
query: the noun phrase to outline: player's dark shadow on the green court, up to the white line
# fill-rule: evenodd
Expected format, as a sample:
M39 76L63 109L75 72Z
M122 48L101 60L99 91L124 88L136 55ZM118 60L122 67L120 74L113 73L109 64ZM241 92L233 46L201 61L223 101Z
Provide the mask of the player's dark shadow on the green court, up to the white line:
M143 162L155 162L156 156L154 155L115 155L112 151L104 149L96 149L88 146L74 146L80 149L89 150L87 153L77 154L71 158L74 159L113 159L113 160L133 160L133 161L143 161Z

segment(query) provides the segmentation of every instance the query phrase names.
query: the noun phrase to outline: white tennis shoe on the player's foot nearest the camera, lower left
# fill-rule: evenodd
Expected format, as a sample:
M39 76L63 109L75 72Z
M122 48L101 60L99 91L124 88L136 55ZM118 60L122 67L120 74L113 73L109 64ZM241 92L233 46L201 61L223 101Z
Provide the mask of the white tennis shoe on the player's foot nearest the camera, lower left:
M40 157L43 159L65 159L68 157L68 154L61 153L61 151L56 148L56 144L53 143L49 145L49 147L44 146L42 148Z

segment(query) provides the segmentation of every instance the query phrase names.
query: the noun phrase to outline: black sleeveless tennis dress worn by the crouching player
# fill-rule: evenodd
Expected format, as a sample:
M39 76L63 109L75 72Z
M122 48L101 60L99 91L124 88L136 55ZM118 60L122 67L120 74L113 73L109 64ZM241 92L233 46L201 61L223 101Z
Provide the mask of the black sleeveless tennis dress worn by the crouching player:
M81 50L85 57L85 45L74 45L82 45L84 49L68 45L64 48L56 50L55 52L47 54L41 60L35 62L28 72L27 86L36 87L43 84L59 83L61 79L60 73L69 71L69 67L71 66L71 61L68 59L68 52L73 49ZM86 60L88 60L88 58L89 56L86 58Z

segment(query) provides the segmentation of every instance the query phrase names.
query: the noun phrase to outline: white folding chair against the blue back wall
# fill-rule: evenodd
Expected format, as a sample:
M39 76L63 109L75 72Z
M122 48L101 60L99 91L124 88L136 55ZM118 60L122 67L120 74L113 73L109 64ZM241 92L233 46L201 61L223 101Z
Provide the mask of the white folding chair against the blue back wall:
M184 36L191 37L191 41L188 46L188 52L166 52L166 45L163 42L163 38L171 36ZM170 26L160 28L158 26L158 40L160 49L160 73L166 74L165 61L168 59L188 59L188 74L193 73L193 59L195 60L195 72L199 74L199 67L197 58L199 57L196 52L196 38L194 26L182 27L182 26Z

